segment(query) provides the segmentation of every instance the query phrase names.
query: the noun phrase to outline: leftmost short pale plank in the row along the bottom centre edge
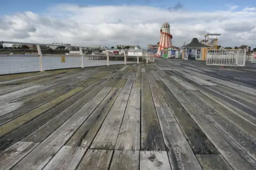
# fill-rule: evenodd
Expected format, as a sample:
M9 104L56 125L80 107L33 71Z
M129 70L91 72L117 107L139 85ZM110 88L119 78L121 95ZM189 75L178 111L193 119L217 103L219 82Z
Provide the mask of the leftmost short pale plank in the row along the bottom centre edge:
M44 167L44 170L75 170L85 151L86 149L82 147L63 146Z

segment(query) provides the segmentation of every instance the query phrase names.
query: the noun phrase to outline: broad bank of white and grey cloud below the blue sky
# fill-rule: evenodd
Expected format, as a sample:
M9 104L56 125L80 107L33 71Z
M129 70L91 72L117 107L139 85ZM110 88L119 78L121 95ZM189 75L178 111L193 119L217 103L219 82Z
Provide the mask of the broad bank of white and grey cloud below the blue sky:
M230 8L229 8L230 9ZM219 44L256 46L256 11L172 11L150 6L78 6L61 4L45 14L16 13L0 18L4 41L73 45L147 44L159 41L159 28L170 23L173 44L180 46L205 33L221 33ZM233 8L234 9L234 8Z

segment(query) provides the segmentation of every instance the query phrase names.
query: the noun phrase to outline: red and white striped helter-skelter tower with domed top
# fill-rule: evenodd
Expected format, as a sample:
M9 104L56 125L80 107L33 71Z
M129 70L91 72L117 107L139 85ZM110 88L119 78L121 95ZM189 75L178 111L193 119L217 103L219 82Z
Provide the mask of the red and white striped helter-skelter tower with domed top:
M160 29L160 41L158 45L157 54L160 55L161 51L164 48L169 48L172 46L172 35L170 34L170 25L167 22L164 22L163 26Z

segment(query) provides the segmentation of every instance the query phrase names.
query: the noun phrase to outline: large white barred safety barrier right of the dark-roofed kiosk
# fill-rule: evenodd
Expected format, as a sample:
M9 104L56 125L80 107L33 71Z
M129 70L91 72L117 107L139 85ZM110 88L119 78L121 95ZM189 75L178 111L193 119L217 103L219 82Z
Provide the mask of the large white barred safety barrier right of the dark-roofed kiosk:
M206 64L212 66L244 67L246 50L207 50Z

